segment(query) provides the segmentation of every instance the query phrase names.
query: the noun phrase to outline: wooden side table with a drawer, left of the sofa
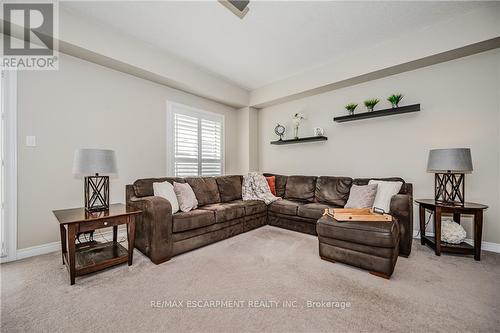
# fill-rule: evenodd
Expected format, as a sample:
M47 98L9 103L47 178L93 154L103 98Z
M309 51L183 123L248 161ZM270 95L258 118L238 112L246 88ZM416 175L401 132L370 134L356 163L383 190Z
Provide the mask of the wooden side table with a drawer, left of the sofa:
M128 262L132 265L135 240L135 217L142 211L124 204L112 204L108 210L87 212L85 208L53 211L59 221L63 264L69 271L70 283L75 277ZM118 243L118 226L127 225L128 249ZM77 235L96 229L113 227L110 242L89 241L76 244Z

